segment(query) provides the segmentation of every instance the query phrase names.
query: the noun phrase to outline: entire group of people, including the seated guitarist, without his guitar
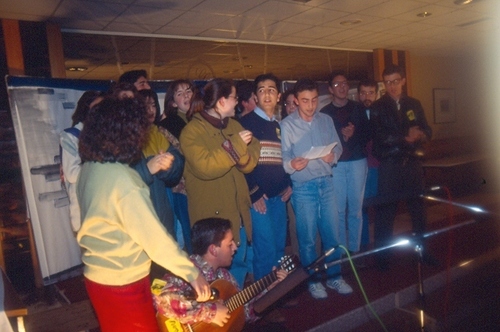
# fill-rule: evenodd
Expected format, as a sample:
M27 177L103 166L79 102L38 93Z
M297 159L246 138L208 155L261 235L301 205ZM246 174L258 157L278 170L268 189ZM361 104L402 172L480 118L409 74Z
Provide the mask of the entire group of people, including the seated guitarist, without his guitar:
M377 84L362 81L358 103L348 99L346 75L332 73L333 99L320 111L316 82L300 79L282 95L273 74L258 76L253 90L238 85L240 91L228 79L213 79L203 91L189 80L174 81L163 113L145 71L122 75L112 94L89 97L80 112L84 116L78 121L74 116L81 135L65 131L61 146L63 177L73 191L71 210L80 212L72 212L72 223L86 287L101 328L155 330L151 261L189 283L200 302L210 296L207 276L227 276L221 269L230 266L230 279L239 288L248 272L255 279L269 274L285 252L288 201L304 266L318 258L318 234L322 250L336 248L326 262L340 258L339 245L359 251L367 243L365 184L377 187L377 174L375 191L382 199L375 205L376 244L392 235L397 202L390 197L401 192L407 194L415 230L422 232L425 213L418 193L423 184L415 152L430 138L430 128L420 103L402 93L404 72L391 66L383 76L384 97L375 101ZM244 90L246 100L239 97ZM287 110L282 121L276 113L280 102ZM254 108L236 119L237 106ZM332 143L326 153L308 157L312 147ZM377 166L378 172L369 171ZM80 174L70 178L71 167ZM326 275L328 288L353 291L339 264ZM285 277L280 271L278 281ZM319 276L310 279L309 291L314 298L328 296ZM168 292L172 282L155 302L159 312L173 314ZM200 310L193 320L227 321L225 308ZM188 311L179 316L185 319Z

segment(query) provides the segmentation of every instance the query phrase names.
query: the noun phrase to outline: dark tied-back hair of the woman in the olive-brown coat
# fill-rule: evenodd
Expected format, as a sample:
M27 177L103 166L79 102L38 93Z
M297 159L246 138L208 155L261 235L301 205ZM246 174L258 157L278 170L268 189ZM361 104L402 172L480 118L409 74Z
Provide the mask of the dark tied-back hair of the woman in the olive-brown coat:
M209 81L203 88L203 96L196 93L193 102L191 103L192 114L199 112L203 109L214 108L217 101L221 98L228 98L235 87L234 82L225 78L214 78Z

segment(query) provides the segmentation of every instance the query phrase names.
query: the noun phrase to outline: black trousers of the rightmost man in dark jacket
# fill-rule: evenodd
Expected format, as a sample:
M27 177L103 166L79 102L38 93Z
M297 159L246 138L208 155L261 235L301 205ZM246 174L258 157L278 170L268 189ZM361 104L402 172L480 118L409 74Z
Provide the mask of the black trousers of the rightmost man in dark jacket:
M424 189L422 163L416 158L391 158L379 167L378 197L375 205L375 245L391 244L394 219L400 201L405 201L411 216L413 232L425 232L426 213L420 196ZM382 255L383 257L384 255Z

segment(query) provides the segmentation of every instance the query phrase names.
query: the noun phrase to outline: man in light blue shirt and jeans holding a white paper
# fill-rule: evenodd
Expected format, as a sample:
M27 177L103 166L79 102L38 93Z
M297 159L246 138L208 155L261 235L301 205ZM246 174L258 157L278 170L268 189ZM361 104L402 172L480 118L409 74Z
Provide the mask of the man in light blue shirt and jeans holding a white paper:
M304 266L314 262L316 236L319 231L323 249L328 250L339 244L339 217L333 188L332 167L342 154L342 145L330 116L316 111L318 87L310 79L301 79L295 84L297 112L281 122L283 166L292 179L292 206L297 219L300 260ZM304 155L311 147L337 145L328 154L307 159ZM341 250L336 249L326 262L340 258ZM326 271L326 285L340 294L352 293L352 288L340 274L340 265L331 266ZM318 279L309 282L309 292L315 299L328 296Z

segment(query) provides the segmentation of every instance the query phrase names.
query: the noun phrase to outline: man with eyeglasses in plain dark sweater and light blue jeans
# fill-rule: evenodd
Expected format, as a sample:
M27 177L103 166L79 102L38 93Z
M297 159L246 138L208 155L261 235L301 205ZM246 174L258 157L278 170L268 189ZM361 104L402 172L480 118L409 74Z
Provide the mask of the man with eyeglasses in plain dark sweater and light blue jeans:
M333 185L340 223L339 244L351 252L358 252L368 171L365 153L369 140L368 119L362 105L348 99L349 84L344 72L333 72L328 83L328 90L333 99L320 112L333 119L342 143L342 155L333 168Z

